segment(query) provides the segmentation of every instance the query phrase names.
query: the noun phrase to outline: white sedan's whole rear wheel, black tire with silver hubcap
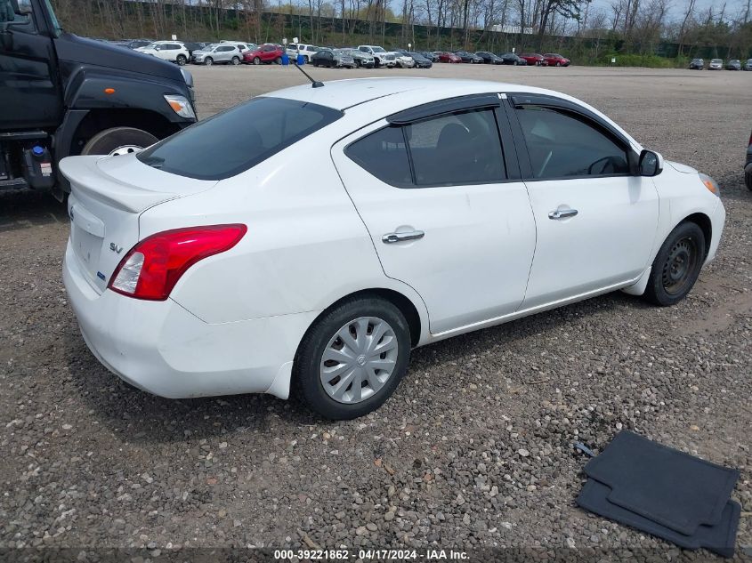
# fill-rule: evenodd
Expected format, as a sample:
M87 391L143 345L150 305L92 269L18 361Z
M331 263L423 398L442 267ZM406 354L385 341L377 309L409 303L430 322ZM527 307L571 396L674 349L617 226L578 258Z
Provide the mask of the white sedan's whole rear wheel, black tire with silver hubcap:
M408 369L408 323L391 302L356 297L311 326L295 354L293 385L311 410L350 420L384 404Z

